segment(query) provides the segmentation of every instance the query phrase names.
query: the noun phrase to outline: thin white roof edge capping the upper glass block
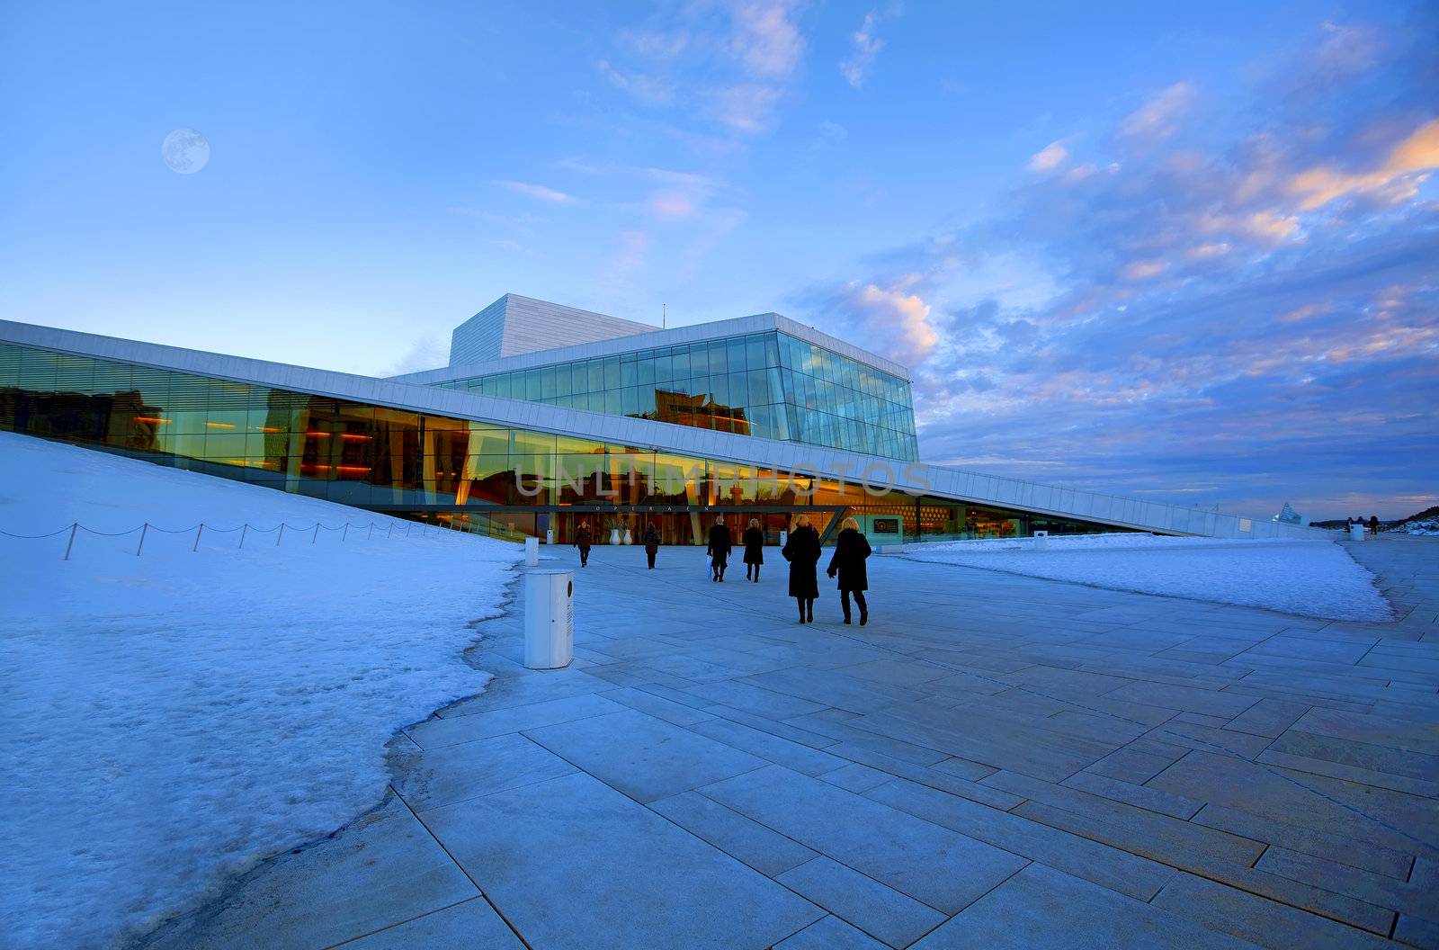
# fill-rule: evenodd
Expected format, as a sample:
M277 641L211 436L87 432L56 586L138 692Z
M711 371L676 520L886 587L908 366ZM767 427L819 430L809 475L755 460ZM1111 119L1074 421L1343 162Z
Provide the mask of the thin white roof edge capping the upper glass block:
M499 301L495 301L485 309L482 309L472 320L479 320L485 312L498 307ZM468 324L463 324L468 325ZM462 325L462 327L463 327ZM845 343L836 337L830 337L826 332L820 332L813 327L806 327L802 322L796 322L789 317L780 314L753 314L750 317L734 317L731 320L717 320L708 324L691 324L688 327L675 327L673 330L655 330L653 327L645 328L643 332L635 332L630 335L614 337L610 340L596 340L590 343L578 343L574 345L555 347L551 350L537 350L534 353L524 353L512 357L482 357L471 363L456 363L455 353L456 347L450 344L450 366L440 367L437 370L420 370L419 373L404 373L401 376L394 376L394 380L403 380L406 383L420 383L425 386L433 386L436 383L448 383L450 380L471 379L475 376L489 376L491 373L509 373L511 370L528 370L535 366L550 366L551 363L570 363L573 360L591 360L596 357L616 356L620 353L635 353L637 350L652 350L655 347L673 347L676 344L696 343L701 340L722 340L725 337L738 337L748 332L766 332L770 330L780 330L790 334L797 340L804 340L806 343L814 344L816 347L823 347L832 353L837 353L842 357L849 357L856 363L873 367L891 376L898 376L902 380L909 379L909 370L899 366L894 360L886 360L881 356L869 353L868 350L861 350L859 347ZM459 330L455 331L459 334Z

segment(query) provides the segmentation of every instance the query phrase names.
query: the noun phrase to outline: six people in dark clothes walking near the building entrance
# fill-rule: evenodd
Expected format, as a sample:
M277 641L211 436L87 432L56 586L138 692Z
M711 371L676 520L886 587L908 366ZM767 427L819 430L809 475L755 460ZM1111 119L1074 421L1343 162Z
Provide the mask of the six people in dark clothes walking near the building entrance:
M655 570L655 556L659 553L659 528L653 522L645 528L645 558L649 570ZM590 544L593 535L586 524L581 524L574 535L574 544L580 548L580 566L590 563ZM740 538L744 546L744 579L760 583L760 567L764 564L764 530L758 518L750 518L750 527ZM709 580L724 583L725 570L730 566L730 554L734 551L734 535L724 522L724 515L715 518L709 528ZM794 520L794 525L784 540L780 554L790 564L790 596L799 605L800 623L814 622L814 600L819 597L819 560L822 557L819 531L810 524L809 515L802 514ZM871 554L869 540L859 531L859 521L845 518L840 524L839 537L835 540L835 553L829 558L826 574L837 582L839 605L845 612L845 623L850 623L849 599L853 596L855 606L859 607L859 626L869 623L869 605L865 602L865 590L869 589L869 574L865 569L865 558Z

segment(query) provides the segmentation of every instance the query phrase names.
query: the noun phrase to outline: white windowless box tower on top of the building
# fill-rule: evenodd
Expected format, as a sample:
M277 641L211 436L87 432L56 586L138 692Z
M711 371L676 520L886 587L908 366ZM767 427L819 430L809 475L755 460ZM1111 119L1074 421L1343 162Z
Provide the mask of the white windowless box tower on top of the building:
M649 330L653 330L649 324L505 294L455 328L450 335L450 366L553 350L573 343L629 337Z

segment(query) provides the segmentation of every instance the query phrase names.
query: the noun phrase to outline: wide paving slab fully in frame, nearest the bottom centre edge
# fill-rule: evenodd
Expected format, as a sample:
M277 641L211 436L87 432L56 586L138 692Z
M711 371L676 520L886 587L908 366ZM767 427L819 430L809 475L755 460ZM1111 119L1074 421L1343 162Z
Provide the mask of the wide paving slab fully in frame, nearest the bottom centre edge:
M950 914L1025 864L999 848L780 766L699 792Z

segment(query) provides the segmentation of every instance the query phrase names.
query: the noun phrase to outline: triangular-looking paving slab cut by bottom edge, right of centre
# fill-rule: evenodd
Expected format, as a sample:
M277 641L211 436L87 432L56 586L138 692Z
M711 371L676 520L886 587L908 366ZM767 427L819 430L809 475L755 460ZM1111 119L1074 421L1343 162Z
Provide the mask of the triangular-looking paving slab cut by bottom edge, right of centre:
M1032 864L915 944L915 950L1253 950L1088 881Z

